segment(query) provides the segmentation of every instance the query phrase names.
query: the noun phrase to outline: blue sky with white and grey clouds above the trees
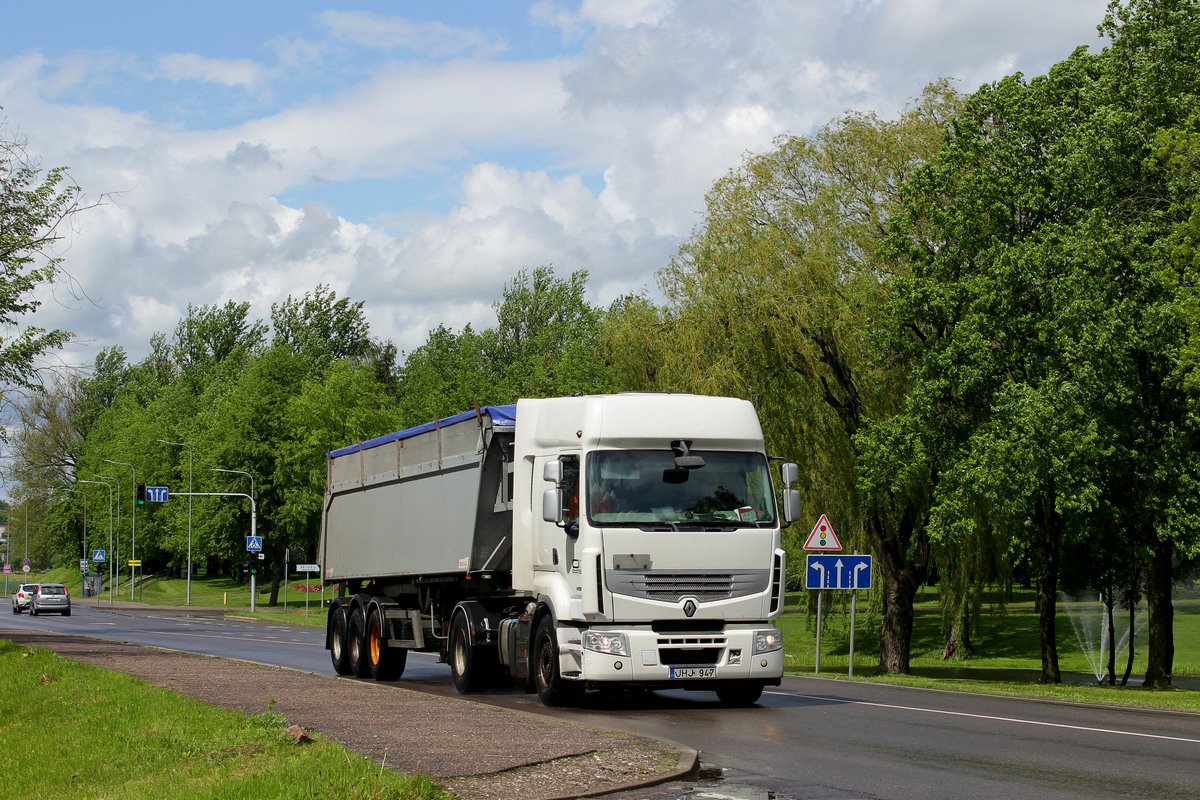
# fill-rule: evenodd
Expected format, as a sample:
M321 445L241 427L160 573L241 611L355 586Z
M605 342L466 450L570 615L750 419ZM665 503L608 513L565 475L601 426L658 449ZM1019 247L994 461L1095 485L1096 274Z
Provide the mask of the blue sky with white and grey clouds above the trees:
M1098 46L1103 0L10 4L0 120L91 199L62 354L319 283L402 350L521 269L655 291L743 155Z

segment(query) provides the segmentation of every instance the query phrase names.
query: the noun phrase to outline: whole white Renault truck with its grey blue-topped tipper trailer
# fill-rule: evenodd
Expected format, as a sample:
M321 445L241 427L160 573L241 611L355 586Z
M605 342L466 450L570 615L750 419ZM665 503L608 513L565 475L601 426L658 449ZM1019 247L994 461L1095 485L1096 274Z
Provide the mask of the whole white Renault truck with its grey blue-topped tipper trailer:
M727 397L620 393L484 407L329 453L320 567L341 675L438 652L467 693L511 678L713 690L784 673L780 517L762 428Z

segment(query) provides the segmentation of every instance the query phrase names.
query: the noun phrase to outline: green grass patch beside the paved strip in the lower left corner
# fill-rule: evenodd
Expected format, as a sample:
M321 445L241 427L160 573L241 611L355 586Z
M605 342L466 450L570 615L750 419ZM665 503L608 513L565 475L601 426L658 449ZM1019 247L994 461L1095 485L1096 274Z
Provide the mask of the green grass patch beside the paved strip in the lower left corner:
M245 716L0 639L5 796L108 800L440 800L421 776L380 768L282 717Z

